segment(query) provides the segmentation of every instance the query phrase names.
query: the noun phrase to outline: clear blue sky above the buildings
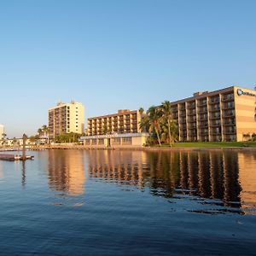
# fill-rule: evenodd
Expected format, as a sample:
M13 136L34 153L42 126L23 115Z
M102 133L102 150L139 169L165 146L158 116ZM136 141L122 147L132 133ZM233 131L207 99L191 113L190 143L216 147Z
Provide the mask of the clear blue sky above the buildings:
M85 118L256 84L256 1L2 0L0 123L35 134L59 100Z

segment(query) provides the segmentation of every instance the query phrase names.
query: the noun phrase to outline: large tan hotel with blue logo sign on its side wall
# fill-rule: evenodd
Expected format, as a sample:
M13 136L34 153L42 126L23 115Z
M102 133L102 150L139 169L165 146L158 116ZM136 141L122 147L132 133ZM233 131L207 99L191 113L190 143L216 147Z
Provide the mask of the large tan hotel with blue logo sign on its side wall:
M256 91L237 86L172 102L180 141L243 141L256 133Z

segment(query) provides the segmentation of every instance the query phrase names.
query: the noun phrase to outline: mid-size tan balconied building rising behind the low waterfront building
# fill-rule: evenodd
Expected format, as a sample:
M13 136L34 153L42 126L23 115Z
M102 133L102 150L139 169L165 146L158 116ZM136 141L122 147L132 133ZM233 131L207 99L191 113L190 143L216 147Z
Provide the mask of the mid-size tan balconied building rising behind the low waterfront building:
M138 110L121 109L118 113L89 118L87 121L87 136L105 135L112 132L141 132L139 123L141 114Z

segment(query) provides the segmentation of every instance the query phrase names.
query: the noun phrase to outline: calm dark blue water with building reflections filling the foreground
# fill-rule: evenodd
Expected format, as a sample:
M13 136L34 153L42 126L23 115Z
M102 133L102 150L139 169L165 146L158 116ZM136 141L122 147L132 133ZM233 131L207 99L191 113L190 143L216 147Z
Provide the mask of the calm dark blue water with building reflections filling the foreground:
M256 255L256 152L0 161L1 255Z

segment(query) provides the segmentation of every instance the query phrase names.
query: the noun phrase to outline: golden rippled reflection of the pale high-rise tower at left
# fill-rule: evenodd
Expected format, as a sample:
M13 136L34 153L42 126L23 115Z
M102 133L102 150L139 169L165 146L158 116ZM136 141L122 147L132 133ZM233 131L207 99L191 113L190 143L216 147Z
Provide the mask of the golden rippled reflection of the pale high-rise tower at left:
M84 153L79 150L51 150L48 161L49 188L64 195L84 193Z

